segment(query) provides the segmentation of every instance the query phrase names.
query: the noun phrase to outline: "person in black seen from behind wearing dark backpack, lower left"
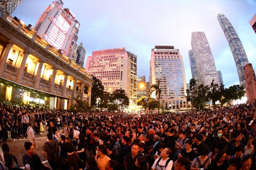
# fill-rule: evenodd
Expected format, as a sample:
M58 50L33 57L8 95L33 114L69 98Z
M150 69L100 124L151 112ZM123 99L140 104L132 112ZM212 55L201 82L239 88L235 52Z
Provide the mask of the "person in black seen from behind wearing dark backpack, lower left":
M48 142L44 143L42 154L44 155L45 159L48 160L50 166L52 167L52 170L57 170L60 160L60 149L57 142L53 141L52 133L49 132L47 134L47 138Z

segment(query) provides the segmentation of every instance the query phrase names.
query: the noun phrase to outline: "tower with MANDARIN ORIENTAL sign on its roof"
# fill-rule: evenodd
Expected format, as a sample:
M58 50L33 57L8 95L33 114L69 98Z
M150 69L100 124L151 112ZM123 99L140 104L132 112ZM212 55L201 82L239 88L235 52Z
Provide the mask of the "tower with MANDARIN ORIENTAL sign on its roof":
M165 107L180 109L187 106L184 64L179 49L174 46L155 46L151 50L150 85L160 81L160 101ZM152 93L152 97L156 97Z

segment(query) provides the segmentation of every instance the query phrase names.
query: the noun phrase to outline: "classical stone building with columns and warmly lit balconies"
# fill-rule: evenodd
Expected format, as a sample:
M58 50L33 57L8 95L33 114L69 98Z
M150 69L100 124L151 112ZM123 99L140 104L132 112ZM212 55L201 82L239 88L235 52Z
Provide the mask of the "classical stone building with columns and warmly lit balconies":
M90 105L92 76L9 15L0 18L0 59L0 100L70 109L80 96Z

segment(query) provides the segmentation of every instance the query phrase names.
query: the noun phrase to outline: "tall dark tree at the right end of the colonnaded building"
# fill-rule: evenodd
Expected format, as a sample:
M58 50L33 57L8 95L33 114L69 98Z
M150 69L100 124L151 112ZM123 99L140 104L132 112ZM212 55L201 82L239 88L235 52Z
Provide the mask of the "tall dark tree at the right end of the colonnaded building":
M104 95L104 86L102 85L102 82L100 79L97 79L97 77L92 77L93 83L92 83L92 96L91 96L91 105L95 106L97 105L97 99L102 98Z

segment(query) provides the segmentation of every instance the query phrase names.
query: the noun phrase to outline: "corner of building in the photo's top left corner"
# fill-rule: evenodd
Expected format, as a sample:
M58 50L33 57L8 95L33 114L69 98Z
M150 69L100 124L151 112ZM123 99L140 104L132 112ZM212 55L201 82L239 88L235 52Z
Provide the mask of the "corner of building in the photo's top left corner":
M22 2L22 0L1 0L0 1L0 17L8 13L9 15L15 10L15 8Z

